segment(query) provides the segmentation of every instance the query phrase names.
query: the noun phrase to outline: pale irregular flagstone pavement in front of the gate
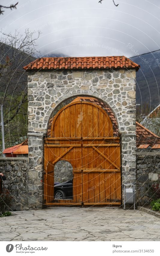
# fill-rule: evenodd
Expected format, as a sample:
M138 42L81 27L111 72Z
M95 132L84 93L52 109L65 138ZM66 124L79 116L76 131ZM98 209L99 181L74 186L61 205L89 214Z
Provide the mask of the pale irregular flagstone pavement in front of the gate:
M108 207L24 210L2 217L1 241L160 241L160 220Z

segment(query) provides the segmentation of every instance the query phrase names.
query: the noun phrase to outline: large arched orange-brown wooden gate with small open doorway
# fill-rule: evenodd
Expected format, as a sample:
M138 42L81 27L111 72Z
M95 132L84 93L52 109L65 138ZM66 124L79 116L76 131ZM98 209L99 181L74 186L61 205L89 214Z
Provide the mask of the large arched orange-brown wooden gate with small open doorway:
M54 164L73 166L73 200L54 199ZM106 111L75 101L54 117L44 144L44 203L47 205L121 204L120 140Z

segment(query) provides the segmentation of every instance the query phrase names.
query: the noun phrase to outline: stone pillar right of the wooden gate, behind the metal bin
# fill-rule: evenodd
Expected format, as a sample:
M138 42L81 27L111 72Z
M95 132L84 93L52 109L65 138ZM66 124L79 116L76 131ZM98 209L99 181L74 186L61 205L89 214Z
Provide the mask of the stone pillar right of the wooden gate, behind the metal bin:
M124 185L132 183L136 191L136 134L122 133L122 198L124 204ZM136 196L136 194L135 194ZM136 198L135 198L136 201Z

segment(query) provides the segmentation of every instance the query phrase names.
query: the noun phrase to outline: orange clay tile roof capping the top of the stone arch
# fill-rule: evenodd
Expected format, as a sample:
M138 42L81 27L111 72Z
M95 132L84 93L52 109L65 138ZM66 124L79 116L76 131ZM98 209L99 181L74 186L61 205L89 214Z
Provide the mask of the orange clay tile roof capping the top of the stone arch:
M108 57L54 57L38 58L23 67L25 70L47 69L98 69L98 68L127 68L136 69L140 65L134 63L125 56Z

